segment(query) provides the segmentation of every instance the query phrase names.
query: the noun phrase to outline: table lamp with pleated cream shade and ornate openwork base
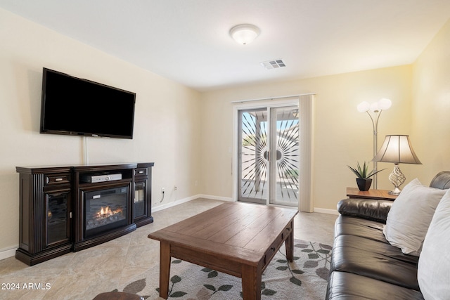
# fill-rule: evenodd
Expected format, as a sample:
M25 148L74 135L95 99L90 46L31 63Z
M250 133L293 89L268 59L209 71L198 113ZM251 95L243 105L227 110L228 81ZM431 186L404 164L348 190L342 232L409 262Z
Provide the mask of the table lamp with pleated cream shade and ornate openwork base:
M389 192L391 195L399 195L401 192L399 186L406 180L399 164L422 164L411 146L409 136L405 135L386 136L380 151L372 161L394 163L394 170L389 175L389 180L394 185L394 190Z

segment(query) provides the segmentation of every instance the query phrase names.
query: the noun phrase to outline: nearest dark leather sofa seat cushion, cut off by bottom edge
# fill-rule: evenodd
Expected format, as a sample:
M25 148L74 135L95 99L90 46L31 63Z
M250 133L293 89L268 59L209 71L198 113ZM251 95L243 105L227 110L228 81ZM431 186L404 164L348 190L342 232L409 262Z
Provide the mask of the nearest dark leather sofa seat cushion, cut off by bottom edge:
M332 272L328 282L326 299L423 299L422 294L415 289L353 273Z

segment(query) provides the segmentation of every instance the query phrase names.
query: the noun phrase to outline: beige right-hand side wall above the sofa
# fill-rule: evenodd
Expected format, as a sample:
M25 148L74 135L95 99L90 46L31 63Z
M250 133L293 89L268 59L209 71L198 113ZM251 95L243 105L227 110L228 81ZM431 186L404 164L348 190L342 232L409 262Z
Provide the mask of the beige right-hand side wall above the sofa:
M412 129L423 163L419 179L429 183L450 170L450 20L413 67Z

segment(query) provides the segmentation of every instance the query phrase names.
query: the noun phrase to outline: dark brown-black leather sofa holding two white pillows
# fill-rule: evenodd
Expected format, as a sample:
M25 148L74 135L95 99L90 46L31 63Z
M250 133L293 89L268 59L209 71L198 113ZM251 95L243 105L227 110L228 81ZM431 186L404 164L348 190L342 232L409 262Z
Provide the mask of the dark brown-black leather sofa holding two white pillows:
M430 187L450 188L450 171ZM338 203L326 299L424 299L418 256L403 254L383 235L392 201L345 199Z

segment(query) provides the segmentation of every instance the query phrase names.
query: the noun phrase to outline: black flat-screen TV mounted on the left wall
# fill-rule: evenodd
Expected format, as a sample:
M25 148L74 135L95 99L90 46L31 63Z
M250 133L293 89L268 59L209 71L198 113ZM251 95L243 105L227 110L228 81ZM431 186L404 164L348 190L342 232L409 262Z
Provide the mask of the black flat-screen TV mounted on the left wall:
M68 81L73 85L68 86L67 95L61 96L60 99L54 101L52 108L49 108L49 103L54 99L47 99L49 92L47 78L49 77L49 74L52 74L52 76L56 75L58 80L61 79L63 81ZM77 86L84 86L85 91L102 91L104 92L105 97L109 96L110 98L97 99L98 101L95 99L83 98L83 100L79 101L81 105L77 105L75 103L74 93L78 96L80 93L83 93L83 91L76 89ZM72 87L75 89L70 89ZM52 86L52 89L58 88ZM70 91L72 91L72 93ZM66 91L58 92L65 93ZM91 95L86 96L90 97ZM117 98L117 96L119 96L119 98ZM79 99L80 98L77 98L77 100ZM63 102L57 103L64 100L69 100L70 102L66 103L66 105L64 105ZM89 100L90 102L86 103L86 101ZM111 105L107 105L109 104L108 101L111 101ZM129 101L129 105L122 105L124 101ZM120 104L122 107L117 107L118 110L115 110L114 107L112 107L114 104ZM41 121L39 133L132 139L134 132L135 104L136 93L125 91L123 89L117 89L113 86L101 84L96 81L74 77L72 75L44 67L42 72ZM82 105L84 106L82 107ZM68 107L72 107L72 110L68 109ZM120 108L127 112L120 111ZM56 110L58 110L58 112L56 112ZM127 113L127 115L120 115L123 113ZM108 114L113 115L113 117L108 117ZM74 121L71 124L68 124L70 123L70 119ZM98 119L98 122L93 121L96 119ZM90 122L91 127L83 124L83 120L85 120L86 124L87 122ZM126 124L124 124L126 127L124 127L122 131L120 124L123 124L124 120L126 120ZM57 122L60 122L60 124L52 124ZM61 126L61 124L64 126Z

